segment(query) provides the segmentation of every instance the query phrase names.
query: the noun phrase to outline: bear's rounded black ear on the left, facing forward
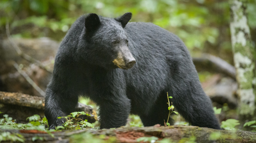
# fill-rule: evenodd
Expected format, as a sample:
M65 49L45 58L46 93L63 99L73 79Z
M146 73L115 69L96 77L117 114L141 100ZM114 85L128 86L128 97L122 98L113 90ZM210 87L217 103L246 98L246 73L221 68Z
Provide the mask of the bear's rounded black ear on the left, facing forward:
M97 14L91 13L85 18L86 32L90 33L92 31L95 31L99 27L99 25L100 25L100 21Z

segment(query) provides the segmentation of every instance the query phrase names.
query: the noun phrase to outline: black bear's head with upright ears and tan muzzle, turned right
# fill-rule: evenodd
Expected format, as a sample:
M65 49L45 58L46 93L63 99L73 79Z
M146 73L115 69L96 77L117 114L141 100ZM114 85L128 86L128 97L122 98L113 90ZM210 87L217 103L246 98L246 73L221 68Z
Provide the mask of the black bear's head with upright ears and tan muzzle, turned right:
M128 48L129 39L124 30L131 16L132 13L125 13L113 19L88 14L83 35L87 59L105 69L132 68L136 60Z

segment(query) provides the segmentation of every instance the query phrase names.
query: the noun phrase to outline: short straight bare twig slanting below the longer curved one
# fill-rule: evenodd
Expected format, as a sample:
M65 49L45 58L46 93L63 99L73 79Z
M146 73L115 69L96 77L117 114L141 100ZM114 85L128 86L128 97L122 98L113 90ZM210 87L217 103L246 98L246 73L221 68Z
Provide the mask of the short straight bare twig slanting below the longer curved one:
M34 89L41 94L41 96L45 96L45 92L36 85L36 83L28 76L28 74L25 71L22 71L20 69L19 65L15 61L13 61L13 66L27 80L27 82L29 82L32 85L32 87L34 87Z

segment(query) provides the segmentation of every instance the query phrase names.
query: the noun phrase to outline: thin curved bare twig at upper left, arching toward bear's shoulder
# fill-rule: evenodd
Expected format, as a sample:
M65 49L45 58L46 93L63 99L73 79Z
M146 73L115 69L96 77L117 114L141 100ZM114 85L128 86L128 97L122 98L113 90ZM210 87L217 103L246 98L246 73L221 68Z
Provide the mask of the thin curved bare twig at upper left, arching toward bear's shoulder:
M52 70L50 68L47 68L46 66L44 66L39 60L36 60L36 59L32 58L31 56L29 56L27 54L24 54L20 50L20 48L17 46L17 44L14 42L14 40L11 37L11 33L10 33L10 29L9 29L9 22L8 21L6 22L5 28L6 28L6 35L8 37L8 40L10 41L12 47L15 49L15 51L18 53L19 56L25 58L26 60L28 60L28 61L30 61L32 63L37 64L42 69L52 73Z

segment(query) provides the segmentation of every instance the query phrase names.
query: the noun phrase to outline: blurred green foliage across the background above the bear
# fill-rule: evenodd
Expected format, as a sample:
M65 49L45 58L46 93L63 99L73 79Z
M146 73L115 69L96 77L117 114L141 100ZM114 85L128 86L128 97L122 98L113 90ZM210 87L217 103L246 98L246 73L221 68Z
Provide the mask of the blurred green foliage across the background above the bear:
M249 24L253 28L256 27L255 8L255 0L250 0L247 11ZM117 17L128 11L133 13L133 21L152 22L176 33L190 49L202 49L206 42L218 44L220 34L229 36L228 30L221 31L221 27L228 27L229 23L228 1L205 0L1 0L0 27L3 29L9 21L12 29L34 24L53 32L65 33L75 19L84 13ZM33 36L30 34L23 33L22 36ZM226 42L230 43L229 40Z

